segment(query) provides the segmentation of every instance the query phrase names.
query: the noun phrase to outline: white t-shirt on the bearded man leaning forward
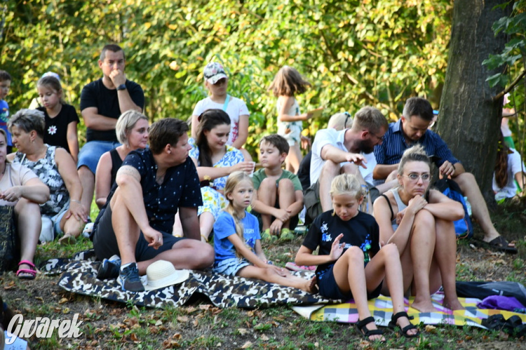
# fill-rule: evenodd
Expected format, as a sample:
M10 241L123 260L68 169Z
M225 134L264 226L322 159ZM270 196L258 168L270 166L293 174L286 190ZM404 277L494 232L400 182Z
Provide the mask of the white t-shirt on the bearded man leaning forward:
M349 152L349 150L343 145L343 141L345 139L345 132L348 129L343 129L341 131L337 131L336 129L322 129L318 130L316 133L316 137L314 138L314 142L312 143L312 158L310 160L310 184L316 183L318 181L318 178L320 177L321 167L323 164L325 164L325 160L321 158L321 149L323 146L326 145L332 145L338 149L341 149L342 151ZM367 183L373 183L372 182L372 170L376 167L376 157L375 153L362 153L360 154L365 157L365 160L367 163L365 166L367 169L360 168L360 173L363 179ZM342 162L340 163L340 166L344 166L348 162Z

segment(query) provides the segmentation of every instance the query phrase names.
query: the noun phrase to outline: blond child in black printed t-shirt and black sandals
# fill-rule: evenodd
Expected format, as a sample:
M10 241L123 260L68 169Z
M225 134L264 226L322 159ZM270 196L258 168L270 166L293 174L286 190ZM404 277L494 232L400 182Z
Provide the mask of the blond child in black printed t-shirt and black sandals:
M331 183L333 210L318 215L297 255L298 265L318 265L319 293L331 299L354 299L358 309L356 326L368 340L385 341L371 316L368 298L380 294L386 276L392 298L393 316L389 326L400 334L419 335L404 311L402 266L397 246L380 248L378 224L371 215L360 212L361 185L351 174L341 174ZM319 246L318 255L313 255Z

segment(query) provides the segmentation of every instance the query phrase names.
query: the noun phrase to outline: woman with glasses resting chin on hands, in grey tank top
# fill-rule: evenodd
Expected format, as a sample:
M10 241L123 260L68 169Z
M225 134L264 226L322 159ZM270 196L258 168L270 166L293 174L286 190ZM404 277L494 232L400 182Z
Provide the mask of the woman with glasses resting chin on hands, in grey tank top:
M464 209L440 191L429 189L430 180L426 151L420 145L407 149L398 166L400 186L382 194L383 198L374 203L373 213L380 242L398 247L404 290L414 295L411 307L421 312L437 311L431 294L443 285L443 306L459 310L463 307L455 289L457 241L453 221L464 217Z

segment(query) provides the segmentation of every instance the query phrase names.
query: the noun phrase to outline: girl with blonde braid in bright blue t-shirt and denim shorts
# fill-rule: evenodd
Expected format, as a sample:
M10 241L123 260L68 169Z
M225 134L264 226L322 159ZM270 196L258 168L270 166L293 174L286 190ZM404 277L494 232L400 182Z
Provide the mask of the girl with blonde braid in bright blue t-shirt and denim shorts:
M224 193L228 205L214 223L214 272L259 279L313 293L315 278L308 281L268 263L261 249L258 220L246 210L254 193L252 179L247 173L231 173Z

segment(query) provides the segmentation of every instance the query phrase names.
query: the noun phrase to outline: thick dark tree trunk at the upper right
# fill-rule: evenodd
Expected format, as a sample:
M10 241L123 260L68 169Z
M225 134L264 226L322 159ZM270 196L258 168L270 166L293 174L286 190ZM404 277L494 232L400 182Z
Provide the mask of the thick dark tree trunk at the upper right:
M495 205L491 184L502 117L502 99L493 101L493 96L502 87L490 88L485 79L499 71L487 69L482 61L499 54L506 43L507 36L495 36L491 29L495 20L509 15L493 9L505 2L455 0L438 119L438 133L466 171L473 173L490 208Z

